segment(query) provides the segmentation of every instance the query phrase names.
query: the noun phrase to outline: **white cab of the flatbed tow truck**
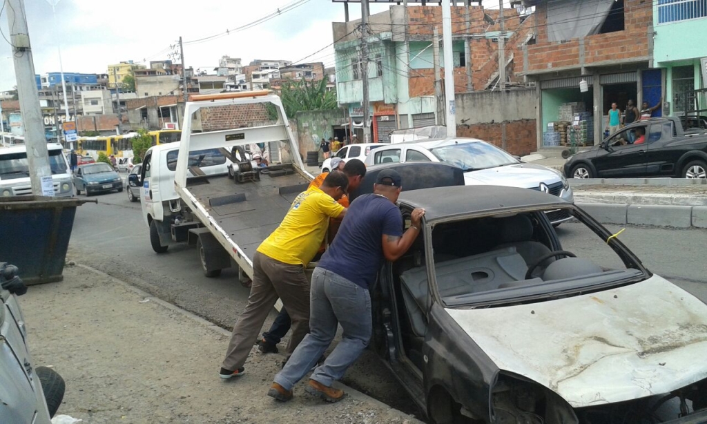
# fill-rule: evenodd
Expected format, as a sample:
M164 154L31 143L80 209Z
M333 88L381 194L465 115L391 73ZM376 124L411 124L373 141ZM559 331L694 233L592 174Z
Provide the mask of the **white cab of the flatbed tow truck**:
M150 242L155 252L164 252L174 240L172 225L182 217L179 196L175 192L175 170L179 143L152 146L145 153L140 174L128 176L140 190L140 203L145 223L150 227ZM228 174L230 160L218 149L189 152L189 163L204 175ZM199 174L201 175L201 174Z

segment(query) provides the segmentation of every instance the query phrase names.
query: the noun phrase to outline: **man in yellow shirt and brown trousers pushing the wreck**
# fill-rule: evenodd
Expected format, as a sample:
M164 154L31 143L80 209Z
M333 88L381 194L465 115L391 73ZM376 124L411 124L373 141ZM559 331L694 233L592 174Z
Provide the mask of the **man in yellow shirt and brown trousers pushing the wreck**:
M344 218L346 208L337 200L346 193L349 179L342 172L327 175L320 188L298 194L290 210L253 256L253 283L248 304L233 327L226 359L219 376L243 375L253 340L280 298L292 319L292 353L309 331L310 283L305 267L317 254L329 228L329 218Z

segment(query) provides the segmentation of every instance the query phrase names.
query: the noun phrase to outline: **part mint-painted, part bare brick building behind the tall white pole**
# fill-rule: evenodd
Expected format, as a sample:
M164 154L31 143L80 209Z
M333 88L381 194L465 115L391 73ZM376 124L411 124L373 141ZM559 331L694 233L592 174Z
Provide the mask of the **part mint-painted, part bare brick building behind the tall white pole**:
M501 33L499 11L481 6L452 7L452 57L455 92L487 90L498 83L498 38L506 40L509 86L524 86L518 53L532 40L532 23L515 8L504 8ZM387 141L390 131L440 123L444 46L440 42L436 78L435 30L442 38L442 9L438 6L391 6L368 19L370 116L374 140ZM360 20L334 23L337 98L349 109L352 130L362 136L363 107ZM521 58L522 59L522 58ZM439 90L435 81L438 79ZM458 123L458 122L457 122ZM361 137L362 139L362 137Z

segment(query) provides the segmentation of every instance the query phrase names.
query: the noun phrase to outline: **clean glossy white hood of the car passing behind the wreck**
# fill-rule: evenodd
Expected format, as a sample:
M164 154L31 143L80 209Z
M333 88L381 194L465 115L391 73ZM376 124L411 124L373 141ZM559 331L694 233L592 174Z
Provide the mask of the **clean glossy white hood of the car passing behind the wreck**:
M557 172L549 167L532 163L518 163L464 172L466 185L489 184L530 189L537 188L541 182L549 185L559 181L560 175Z

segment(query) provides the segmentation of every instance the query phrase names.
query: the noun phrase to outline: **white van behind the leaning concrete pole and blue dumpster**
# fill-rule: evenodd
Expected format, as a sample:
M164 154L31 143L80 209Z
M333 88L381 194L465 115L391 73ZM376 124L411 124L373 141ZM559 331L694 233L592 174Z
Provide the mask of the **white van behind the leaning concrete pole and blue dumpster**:
M64 157L64 148L59 143L47 143L49 167L54 180L54 196L71 197L71 170ZM27 146L16 144L0 148L0 196L25 196L32 194L30 165Z

